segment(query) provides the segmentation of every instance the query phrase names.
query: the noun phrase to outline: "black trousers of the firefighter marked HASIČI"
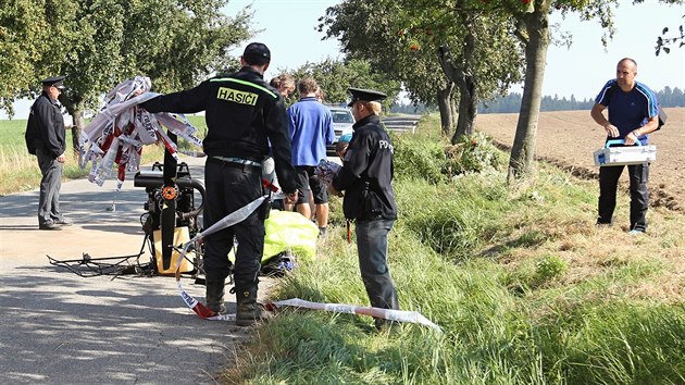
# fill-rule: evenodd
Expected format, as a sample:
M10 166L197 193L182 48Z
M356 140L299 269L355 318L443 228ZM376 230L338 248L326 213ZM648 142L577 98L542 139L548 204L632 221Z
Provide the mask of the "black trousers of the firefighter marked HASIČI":
M258 167L208 159L204 166L207 202L204 228L262 196L262 172ZM205 239L204 274L208 281L225 280L231 273L228 252L237 240L233 270L236 286L257 282L264 252L264 220L256 210L245 221L209 235Z

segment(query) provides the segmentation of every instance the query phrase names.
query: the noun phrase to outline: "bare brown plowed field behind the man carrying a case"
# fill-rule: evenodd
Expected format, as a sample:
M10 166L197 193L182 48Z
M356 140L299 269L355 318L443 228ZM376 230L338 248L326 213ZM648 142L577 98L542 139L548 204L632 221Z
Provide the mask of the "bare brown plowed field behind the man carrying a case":
M685 108L664 109L667 125L650 135L657 146L657 161L651 164L649 186L651 204L685 210ZM482 114L476 129L511 148L519 114ZM605 131L593 121L589 111L543 112L537 127L536 156L571 170L574 175L596 178L599 167L593 152L601 148ZM627 172L621 181L627 186Z

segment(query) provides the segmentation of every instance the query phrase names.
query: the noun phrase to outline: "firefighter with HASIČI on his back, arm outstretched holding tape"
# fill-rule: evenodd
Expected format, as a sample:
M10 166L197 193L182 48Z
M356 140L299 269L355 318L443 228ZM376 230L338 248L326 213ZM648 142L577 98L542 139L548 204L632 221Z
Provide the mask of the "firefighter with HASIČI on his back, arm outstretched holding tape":
M239 72L141 103L149 112L205 111L208 133L202 142L208 156L204 166L204 228L262 196L261 162L269 153L270 142L278 182L288 195L286 200L297 199L285 105L278 92L263 80L270 62L269 48L251 42L240 58L242 67ZM265 212L258 209L245 221L205 239L207 305L215 312L226 311L224 285L231 273L227 254L234 236L237 239L233 290L236 293L236 324L239 326L251 325L266 315L257 305Z

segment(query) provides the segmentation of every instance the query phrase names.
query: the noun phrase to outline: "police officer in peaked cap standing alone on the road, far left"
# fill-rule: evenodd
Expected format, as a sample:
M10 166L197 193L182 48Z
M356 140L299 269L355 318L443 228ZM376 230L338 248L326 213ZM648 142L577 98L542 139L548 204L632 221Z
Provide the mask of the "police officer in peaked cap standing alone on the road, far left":
M60 212L60 188L62 166L66 158L64 117L58 101L64 89L64 76L53 76L42 80L42 92L30 107L26 125L26 147L28 153L38 158L40 198L38 203L38 228L60 229L72 224Z

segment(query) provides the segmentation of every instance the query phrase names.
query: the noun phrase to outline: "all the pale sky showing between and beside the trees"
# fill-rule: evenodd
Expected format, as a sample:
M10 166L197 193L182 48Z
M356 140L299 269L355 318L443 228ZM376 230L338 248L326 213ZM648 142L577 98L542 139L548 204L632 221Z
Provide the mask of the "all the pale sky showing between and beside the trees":
M321 62L327 58L342 59L336 39L322 40L323 33L315 30L319 17L326 8L339 0L229 0L225 7L233 16L247 5L252 5L252 27L262 29L250 41L261 41L272 52L272 64L265 74L269 80L281 70L295 70L307 62ZM616 33L605 49L601 45L602 28L596 21L581 22L571 14L562 20L552 14L551 23L559 23L560 30L572 34L573 45L550 46L547 52L547 67L543 94L546 96L571 97L583 100L595 98L601 86L615 76L615 64L628 57L637 61L637 80L647 84L655 91L669 86L685 89L685 48L673 48L670 54L655 55L657 37L668 26L671 36L684 23L685 8L658 4L632 5L631 0L622 0L614 13ZM645 21L649 21L646 23ZM240 55L249 41L232 53ZM511 91L521 92L522 86ZM32 101L15 104L16 119L26 119ZM0 119L5 115L0 111Z

